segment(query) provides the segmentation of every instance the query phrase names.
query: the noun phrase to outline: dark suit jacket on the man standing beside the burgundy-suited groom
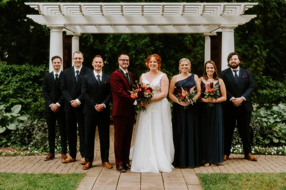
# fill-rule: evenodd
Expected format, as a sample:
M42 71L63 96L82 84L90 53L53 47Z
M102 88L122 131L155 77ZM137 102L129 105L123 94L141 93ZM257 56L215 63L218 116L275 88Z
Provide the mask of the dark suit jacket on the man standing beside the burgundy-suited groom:
M112 91L110 87L110 76L102 73L101 85L97 83L94 72L83 76L81 85L81 94L85 101L83 114L86 115L104 115L109 117L109 102L112 99ZM105 104L105 108L101 112L97 112L94 106L97 104Z

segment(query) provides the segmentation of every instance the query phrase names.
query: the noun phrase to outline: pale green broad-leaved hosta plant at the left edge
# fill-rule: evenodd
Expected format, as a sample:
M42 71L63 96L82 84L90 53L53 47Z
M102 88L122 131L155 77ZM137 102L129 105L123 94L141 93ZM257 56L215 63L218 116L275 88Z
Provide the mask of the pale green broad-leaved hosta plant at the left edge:
M27 120L29 115L20 115L21 105L15 105L11 108L11 112L5 112L6 105L0 105L0 145L5 147L11 145L16 139L11 132L23 125L23 121ZM3 136L4 135L4 136Z

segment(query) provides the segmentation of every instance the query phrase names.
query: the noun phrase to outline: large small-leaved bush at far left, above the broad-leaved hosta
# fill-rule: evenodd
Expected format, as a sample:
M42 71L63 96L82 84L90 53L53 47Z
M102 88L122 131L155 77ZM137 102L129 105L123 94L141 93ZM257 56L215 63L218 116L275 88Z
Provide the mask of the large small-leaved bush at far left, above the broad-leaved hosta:
M21 111L29 113L32 102L41 95L43 76L47 72L44 65L9 65L0 61L0 105L21 104Z

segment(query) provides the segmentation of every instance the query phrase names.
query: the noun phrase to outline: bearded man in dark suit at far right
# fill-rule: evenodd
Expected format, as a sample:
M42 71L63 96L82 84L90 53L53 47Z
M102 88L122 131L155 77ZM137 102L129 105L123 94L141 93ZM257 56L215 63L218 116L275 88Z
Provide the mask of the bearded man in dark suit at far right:
M251 94L254 88L251 72L240 67L240 55L232 52L227 57L228 69L220 72L219 77L226 85L226 102L223 103L224 119L224 160L229 159L231 141L235 125L243 143L244 158L257 161L251 153L249 124L251 111Z

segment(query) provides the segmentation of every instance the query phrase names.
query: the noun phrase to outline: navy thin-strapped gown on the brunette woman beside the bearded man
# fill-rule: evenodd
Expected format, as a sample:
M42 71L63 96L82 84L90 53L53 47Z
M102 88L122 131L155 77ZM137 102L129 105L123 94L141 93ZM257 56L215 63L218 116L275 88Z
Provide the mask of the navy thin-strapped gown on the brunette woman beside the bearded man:
M201 82L201 88L206 84ZM219 85L219 81L215 83ZM220 87L218 87L220 90ZM203 91L201 97L204 97ZM221 103L199 102L200 159L202 163L222 163L223 160L223 110Z

